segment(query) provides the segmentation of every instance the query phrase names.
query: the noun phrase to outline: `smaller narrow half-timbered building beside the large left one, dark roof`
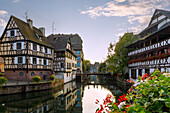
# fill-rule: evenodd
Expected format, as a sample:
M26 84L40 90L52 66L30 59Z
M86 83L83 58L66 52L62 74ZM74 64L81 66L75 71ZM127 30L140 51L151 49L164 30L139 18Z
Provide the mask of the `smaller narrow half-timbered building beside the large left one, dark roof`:
M76 78L77 60L75 51L72 48L70 37L47 37L54 47L53 72L56 78L64 79L64 83Z

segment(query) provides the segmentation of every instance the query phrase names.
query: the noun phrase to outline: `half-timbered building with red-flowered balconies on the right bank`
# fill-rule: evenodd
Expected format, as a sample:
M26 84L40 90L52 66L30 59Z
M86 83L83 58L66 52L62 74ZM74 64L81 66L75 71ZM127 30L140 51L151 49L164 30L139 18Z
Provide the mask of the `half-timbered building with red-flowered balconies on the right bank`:
M127 48L130 78L154 69L170 72L170 11L155 10L148 27Z

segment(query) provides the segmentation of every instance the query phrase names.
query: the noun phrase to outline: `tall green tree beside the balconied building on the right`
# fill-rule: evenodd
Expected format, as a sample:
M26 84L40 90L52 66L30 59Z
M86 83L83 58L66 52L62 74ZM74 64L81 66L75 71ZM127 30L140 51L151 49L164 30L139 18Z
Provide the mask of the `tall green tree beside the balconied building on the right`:
M136 37L131 33L125 33L117 43L110 43L107 56L107 67L109 72L124 74L128 65L128 50L126 48Z

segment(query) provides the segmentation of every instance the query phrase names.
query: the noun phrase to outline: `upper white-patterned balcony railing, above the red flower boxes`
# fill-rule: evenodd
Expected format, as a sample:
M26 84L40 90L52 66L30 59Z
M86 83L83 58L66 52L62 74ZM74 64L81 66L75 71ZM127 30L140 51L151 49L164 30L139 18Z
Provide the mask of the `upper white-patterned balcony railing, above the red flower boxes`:
M128 56L139 54L139 53L142 53L142 52L145 52L145 51L148 51L148 50L153 50L153 49L157 49L157 48L168 46L168 45L170 45L170 39L166 39L166 40L163 40L159 43L156 43L156 44L153 44L153 45L132 51L132 52L128 53Z

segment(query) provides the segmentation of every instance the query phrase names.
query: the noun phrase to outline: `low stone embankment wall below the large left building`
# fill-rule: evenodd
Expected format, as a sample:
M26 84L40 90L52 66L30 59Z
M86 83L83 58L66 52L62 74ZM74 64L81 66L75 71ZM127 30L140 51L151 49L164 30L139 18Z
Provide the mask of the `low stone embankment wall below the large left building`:
M55 83L49 81L49 82L38 83L38 84L30 83L30 84L22 84L22 85L5 85L0 87L0 95L40 91L40 90L60 87L62 85L64 85L63 79L56 80Z

